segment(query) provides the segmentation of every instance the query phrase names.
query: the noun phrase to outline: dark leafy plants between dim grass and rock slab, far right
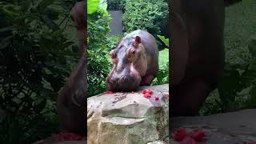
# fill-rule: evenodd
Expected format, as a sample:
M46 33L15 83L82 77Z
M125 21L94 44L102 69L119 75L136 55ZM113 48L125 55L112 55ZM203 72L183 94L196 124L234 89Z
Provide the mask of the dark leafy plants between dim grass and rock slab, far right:
M256 38L249 43L250 62L226 63L224 75L201 114L214 114L256 107Z

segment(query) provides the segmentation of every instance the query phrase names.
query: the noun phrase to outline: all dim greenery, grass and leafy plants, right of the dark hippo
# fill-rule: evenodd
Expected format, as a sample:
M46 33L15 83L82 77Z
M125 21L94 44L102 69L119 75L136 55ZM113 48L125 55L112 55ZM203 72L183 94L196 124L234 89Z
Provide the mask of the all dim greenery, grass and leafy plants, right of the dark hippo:
M256 3L226 8L226 66L218 91L206 99L201 114L255 108L256 102Z

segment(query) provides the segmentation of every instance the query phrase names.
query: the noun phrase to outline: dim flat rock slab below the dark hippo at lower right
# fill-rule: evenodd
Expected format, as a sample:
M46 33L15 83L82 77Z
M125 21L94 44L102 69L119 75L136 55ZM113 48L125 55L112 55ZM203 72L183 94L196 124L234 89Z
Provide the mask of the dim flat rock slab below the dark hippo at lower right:
M256 109L197 117L170 118L171 134L178 127L206 131L206 144L234 144L256 142ZM170 141L174 142L173 139Z

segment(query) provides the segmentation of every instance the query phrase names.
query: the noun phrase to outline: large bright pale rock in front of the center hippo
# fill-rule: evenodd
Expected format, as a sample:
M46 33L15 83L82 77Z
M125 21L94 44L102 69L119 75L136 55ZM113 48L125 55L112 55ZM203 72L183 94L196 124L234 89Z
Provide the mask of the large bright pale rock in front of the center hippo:
M88 144L146 144L168 137L169 85L146 86L134 93L87 98ZM153 90L144 98L144 89ZM155 97L159 100L155 101Z

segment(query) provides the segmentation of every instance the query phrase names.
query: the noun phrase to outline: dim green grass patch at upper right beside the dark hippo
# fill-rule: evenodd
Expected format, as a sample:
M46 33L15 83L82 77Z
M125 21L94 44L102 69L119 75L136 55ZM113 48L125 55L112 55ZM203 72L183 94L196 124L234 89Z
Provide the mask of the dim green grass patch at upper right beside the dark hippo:
M249 62L248 42L256 29L256 3L242 2L226 7L224 42L226 62Z

